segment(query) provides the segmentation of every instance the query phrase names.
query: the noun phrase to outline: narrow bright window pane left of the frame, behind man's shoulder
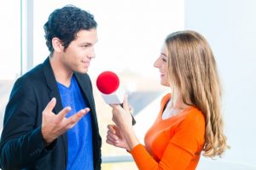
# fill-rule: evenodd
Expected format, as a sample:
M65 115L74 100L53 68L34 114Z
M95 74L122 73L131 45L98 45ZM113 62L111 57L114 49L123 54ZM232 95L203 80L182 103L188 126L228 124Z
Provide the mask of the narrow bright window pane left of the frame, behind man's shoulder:
M0 132L3 127L3 114L13 83L21 72L20 51L20 5L17 1L4 1L0 10ZM19 3L18 3L19 4Z

